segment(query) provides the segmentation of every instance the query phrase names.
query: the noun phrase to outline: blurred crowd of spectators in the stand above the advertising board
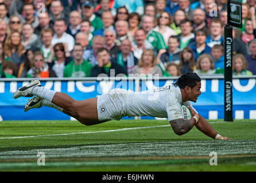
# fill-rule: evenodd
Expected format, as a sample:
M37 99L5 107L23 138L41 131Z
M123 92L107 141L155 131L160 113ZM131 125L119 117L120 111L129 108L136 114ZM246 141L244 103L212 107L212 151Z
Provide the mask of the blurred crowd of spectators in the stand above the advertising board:
M255 75L256 1L238 1L233 74ZM226 24L226 0L0 0L0 77L223 74Z

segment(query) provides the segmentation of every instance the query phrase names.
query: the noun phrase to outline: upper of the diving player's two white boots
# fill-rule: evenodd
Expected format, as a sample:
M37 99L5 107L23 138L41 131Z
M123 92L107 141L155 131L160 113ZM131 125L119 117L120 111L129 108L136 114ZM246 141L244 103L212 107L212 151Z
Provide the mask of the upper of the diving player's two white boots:
M32 80L28 85L20 87L14 94L13 98L33 97L32 90L35 86L42 86L39 80Z

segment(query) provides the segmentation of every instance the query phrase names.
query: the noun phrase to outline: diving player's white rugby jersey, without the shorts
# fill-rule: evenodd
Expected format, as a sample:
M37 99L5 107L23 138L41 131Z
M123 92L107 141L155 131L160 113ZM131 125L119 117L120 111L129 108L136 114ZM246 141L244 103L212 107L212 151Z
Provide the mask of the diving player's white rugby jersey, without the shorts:
M179 87L167 85L127 95L127 116L152 116L168 118L168 121L183 118L181 104L192 107L190 101L182 102Z

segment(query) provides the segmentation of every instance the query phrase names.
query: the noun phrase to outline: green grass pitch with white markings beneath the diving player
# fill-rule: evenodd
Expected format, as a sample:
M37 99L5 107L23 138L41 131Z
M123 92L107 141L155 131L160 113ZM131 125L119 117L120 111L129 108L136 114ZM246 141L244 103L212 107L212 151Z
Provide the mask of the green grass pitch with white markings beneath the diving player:
M212 140L196 127L177 136L161 120L2 121L0 171L255 171L256 120L210 124L232 140ZM211 152L218 165L210 165Z

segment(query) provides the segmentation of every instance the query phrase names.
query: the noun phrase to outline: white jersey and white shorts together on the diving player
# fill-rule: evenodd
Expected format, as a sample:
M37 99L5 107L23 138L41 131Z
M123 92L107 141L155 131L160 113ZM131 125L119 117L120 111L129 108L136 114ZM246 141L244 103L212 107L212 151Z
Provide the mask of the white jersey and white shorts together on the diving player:
M97 110L99 121L120 120L124 116L151 116L172 121L183 118L181 104L193 108L191 102L182 102L179 87L167 85L143 92L110 90L98 97Z

